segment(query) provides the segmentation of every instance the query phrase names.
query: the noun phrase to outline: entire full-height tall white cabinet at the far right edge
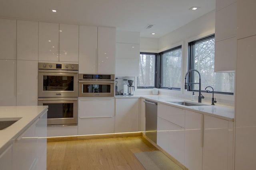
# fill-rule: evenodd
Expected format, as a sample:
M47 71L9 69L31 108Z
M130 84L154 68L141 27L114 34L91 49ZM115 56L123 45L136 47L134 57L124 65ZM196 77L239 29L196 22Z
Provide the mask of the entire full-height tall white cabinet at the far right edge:
M235 170L256 167L256 92L244 89L256 83L256 2L238 0L238 50L236 70Z

